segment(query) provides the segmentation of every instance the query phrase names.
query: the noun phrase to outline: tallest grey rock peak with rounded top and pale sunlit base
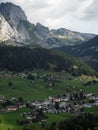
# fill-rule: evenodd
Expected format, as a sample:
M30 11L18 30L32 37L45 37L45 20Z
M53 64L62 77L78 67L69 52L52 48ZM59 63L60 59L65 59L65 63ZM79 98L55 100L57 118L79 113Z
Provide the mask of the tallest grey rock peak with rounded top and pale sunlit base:
M24 42L28 40L29 35L23 26L23 21L27 21L27 17L19 6L11 3L1 3L0 41Z

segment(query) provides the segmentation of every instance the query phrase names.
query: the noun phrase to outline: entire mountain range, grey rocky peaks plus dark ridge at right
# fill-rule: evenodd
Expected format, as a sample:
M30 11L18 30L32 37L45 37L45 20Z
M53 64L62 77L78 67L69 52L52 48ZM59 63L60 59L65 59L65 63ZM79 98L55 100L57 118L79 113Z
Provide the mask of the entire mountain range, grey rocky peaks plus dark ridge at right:
M32 24L21 7L10 2L0 4L0 45L55 48L98 70L98 36Z

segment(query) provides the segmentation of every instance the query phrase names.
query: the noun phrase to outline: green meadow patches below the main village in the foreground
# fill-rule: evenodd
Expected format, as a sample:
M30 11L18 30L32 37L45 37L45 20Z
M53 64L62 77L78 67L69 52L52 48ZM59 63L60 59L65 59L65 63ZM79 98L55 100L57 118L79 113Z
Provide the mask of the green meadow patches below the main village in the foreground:
M15 112L8 112L8 113L2 113L0 114L0 120L2 121L0 123L0 130L7 130L8 128L10 128L10 130L22 130L23 127L34 127L37 126L39 127L40 125L38 125L38 123L32 123L29 125L23 125L23 126L19 126L16 124L16 120L23 120L23 117L21 117L21 113L24 111L31 111L30 109L20 109L18 111ZM69 117L72 117L72 115L70 113L61 113L61 114L47 114L48 115L48 120L47 120L47 126L50 126L52 122L59 122L61 120L65 120Z

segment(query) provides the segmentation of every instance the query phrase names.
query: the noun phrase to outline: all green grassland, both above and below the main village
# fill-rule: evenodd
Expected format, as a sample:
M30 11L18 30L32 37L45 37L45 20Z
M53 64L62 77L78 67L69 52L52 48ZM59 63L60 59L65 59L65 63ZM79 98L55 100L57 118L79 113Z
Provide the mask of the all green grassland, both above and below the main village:
M35 79L34 82L32 83L31 80L22 79L20 77L6 78L6 79L1 78L0 95L4 95L8 99L12 97L18 98L19 96L23 96L24 99L41 100L47 98L49 95L62 94L66 93L66 91L68 92L78 91L82 87L82 83L86 82L86 80L77 80L77 78L71 77L70 75L68 76L68 74L65 75L64 73L43 72L43 71L38 71L37 73L41 75L43 75L44 73L53 74L56 76L61 76L61 79L59 83L56 83L55 87L52 90L49 90L46 87L47 83L43 82L41 79ZM68 77L71 77L72 80L68 80ZM12 89L10 86L8 86L9 81L12 81L15 89ZM73 86L77 86L77 88L75 89L73 88ZM86 92L96 92L97 90L98 90L98 84L94 84L90 87L84 87L84 91ZM30 111L30 110L21 109L16 112L0 114L1 119L0 130L7 130L7 128L10 128L10 130L14 129L22 130L21 126L16 126L16 120L21 118L20 114L23 111ZM71 116L70 113L64 113L59 115L49 114L47 125L50 125L51 122L54 121L64 120L69 116Z

